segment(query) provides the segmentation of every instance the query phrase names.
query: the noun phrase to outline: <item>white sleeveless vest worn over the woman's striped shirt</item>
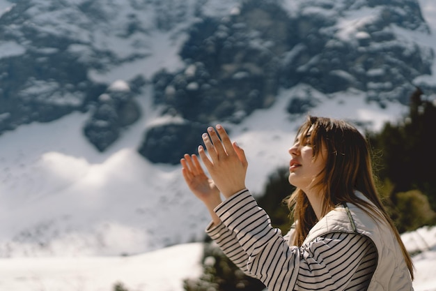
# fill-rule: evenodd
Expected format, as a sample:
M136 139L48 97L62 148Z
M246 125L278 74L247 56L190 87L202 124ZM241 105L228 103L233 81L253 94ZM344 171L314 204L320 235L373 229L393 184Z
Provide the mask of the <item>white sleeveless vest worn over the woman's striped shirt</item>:
M357 195L368 201L363 194ZM377 248L377 268L368 290L413 290L409 269L395 234L386 222L374 221L355 204L338 206L312 227L303 244L331 232L357 232L369 237ZM381 214L380 214L381 215ZM383 220L384 221L384 220Z

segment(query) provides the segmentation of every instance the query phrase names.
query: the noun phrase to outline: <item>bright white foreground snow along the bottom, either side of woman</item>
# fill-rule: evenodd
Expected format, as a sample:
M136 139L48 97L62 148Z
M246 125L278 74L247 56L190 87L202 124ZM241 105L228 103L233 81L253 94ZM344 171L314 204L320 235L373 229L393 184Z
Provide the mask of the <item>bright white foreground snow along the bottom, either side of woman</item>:
M413 257L415 291L435 291L436 227L403 234ZM131 257L0 259L0 288L8 291L183 291L183 280L201 274L201 243L180 244Z

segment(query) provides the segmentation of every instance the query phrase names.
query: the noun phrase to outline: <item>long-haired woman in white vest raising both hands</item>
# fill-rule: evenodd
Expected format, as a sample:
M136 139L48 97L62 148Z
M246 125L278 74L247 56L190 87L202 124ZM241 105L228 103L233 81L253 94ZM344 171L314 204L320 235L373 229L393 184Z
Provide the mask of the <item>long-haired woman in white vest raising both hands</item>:
M374 186L368 144L345 121L308 117L289 149L294 223L282 236L245 186L247 158L217 125L181 159L212 217L206 232L242 271L276 290L413 290L413 267ZM221 201L220 193L226 198Z

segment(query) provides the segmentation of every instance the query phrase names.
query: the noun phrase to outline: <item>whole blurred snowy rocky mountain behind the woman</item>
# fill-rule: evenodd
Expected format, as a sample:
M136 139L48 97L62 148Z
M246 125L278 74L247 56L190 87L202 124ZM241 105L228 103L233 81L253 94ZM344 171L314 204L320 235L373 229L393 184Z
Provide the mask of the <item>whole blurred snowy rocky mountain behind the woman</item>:
M434 4L349 2L0 1L0 256L199 241L177 163L209 124L261 193L306 112L377 129L434 98Z

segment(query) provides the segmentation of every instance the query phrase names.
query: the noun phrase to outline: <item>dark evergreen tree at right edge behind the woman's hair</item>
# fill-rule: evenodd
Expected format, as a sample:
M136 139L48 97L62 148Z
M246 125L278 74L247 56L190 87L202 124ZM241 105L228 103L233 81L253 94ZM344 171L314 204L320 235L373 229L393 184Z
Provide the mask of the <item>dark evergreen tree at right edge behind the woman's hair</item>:
M398 193L419 191L428 199L430 208L436 210L435 101L423 100L423 91L416 88L410 97L409 114L398 124L387 123L380 133L369 135L371 145L381 153L373 157L381 166L377 169L377 176L382 184L392 185L387 203L396 209L391 215L400 228L405 220L400 217L402 211L398 211L398 205L403 204L402 195ZM421 225L426 223L429 222L421 221ZM407 230L417 226L410 225Z

